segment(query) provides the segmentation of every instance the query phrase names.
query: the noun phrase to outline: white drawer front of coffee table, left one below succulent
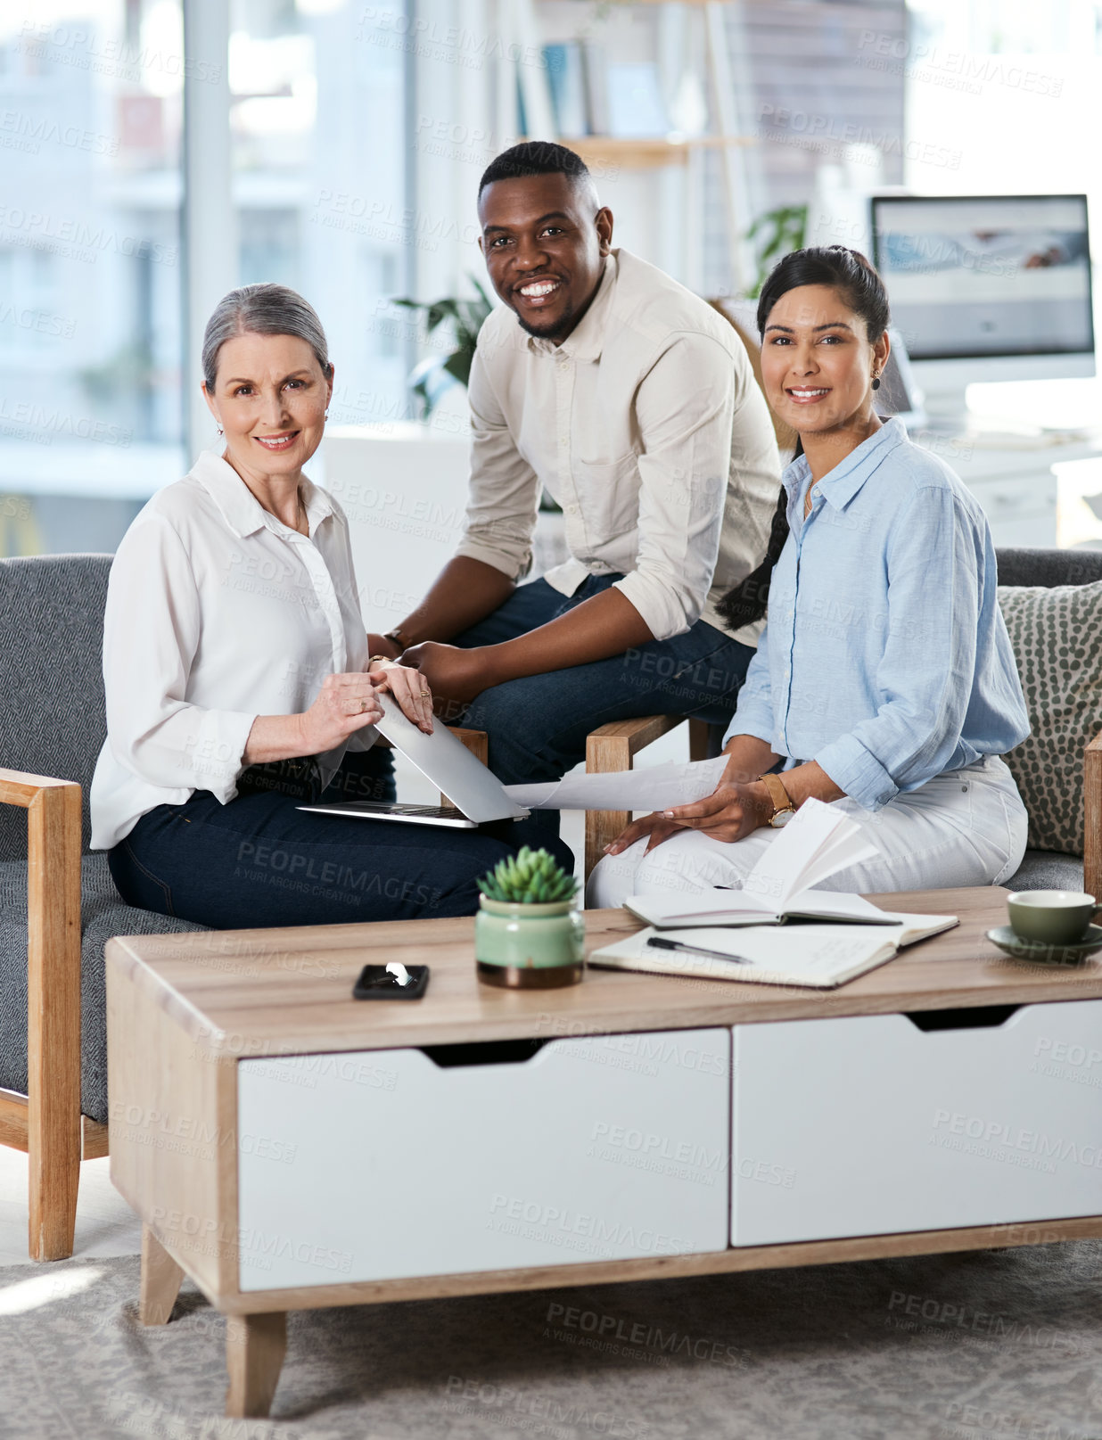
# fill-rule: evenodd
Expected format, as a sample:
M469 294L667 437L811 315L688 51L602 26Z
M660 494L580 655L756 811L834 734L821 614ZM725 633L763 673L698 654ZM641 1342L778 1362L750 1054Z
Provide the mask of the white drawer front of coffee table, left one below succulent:
M238 1064L242 1290L726 1248L729 1030L448 1048Z

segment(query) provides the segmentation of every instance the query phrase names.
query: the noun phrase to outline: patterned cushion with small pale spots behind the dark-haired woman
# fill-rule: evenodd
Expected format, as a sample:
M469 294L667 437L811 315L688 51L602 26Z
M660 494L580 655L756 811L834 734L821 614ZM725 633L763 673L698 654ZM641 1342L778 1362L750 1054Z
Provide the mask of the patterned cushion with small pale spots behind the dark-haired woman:
M1083 852L1083 749L1102 729L1102 580L1000 586L1030 734L1005 757L1030 850Z

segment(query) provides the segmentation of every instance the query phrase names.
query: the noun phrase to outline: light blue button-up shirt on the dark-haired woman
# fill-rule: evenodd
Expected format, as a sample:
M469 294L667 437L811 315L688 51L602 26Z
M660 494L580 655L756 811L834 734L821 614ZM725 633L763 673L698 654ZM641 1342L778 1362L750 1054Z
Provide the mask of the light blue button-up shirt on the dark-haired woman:
M876 811L1029 734L987 518L887 420L814 487L785 469L791 533L726 739L818 760Z

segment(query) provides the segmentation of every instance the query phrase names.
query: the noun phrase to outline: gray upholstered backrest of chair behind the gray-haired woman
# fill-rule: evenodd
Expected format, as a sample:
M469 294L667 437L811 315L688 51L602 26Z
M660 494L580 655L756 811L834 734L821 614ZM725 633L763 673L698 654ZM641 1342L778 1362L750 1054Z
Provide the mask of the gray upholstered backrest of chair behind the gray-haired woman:
M0 766L88 788L107 734L104 606L109 554L0 560ZM135 657L137 658L137 657ZM27 818L0 806L0 861L27 852Z

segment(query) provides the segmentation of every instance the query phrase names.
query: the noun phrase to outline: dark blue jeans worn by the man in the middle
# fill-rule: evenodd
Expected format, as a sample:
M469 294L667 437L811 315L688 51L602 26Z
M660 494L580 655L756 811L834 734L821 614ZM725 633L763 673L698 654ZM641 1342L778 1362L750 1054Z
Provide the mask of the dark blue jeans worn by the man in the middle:
M470 649L516 639L618 579L591 575L573 595L559 595L546 580L520 585L452 644ZM683 714L726 726L752 658L748 645L697 621L673 639L653 639L609 660L484 690L462 723L488 733L490 769L506 785L557 780L585 757L589 732L609 720Z

